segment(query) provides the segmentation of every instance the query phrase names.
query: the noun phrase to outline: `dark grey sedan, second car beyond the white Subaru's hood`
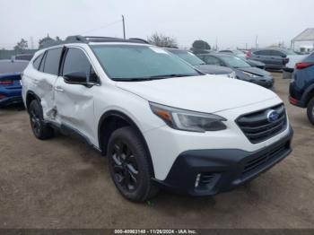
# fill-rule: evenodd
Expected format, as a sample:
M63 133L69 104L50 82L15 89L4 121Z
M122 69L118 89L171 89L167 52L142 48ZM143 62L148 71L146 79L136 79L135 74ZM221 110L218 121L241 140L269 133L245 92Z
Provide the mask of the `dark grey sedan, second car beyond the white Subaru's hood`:
M231 67L240 80L256 83L266 88L272 88L274 78L270 73L257 67L252 67L239 57L223 53L197 54L207 65L221 65Z

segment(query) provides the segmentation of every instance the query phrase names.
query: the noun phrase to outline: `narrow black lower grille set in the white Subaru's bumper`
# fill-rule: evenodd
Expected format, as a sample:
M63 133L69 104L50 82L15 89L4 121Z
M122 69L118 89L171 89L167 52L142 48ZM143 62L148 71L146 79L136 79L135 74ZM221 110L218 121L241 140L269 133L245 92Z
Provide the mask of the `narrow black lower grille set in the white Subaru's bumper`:
M268 162L275 161L278 156L281 156L282 152L287 151L289 148L290 143L284 143L255 159L247 161L244 165L244 169L242 170L242 176L248 176L248 174L251 174L252 171L263 168Z

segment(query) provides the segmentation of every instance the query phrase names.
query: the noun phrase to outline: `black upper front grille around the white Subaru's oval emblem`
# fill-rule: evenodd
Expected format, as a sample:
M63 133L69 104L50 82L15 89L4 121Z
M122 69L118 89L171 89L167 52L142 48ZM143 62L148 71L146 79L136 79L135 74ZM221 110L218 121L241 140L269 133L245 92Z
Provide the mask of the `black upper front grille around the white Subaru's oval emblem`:
M278 113L278 118L274 121L269 121L267 117L271 110ZM249 141L252 144L257 144L281 133L287 125L287 117L284 105L280 104L241 116L236 122Z

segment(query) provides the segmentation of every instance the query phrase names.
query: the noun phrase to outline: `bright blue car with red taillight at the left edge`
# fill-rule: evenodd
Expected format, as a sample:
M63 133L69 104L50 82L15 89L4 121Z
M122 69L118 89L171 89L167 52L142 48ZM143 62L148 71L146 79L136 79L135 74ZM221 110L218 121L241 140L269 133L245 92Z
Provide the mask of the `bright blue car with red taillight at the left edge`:
M0 60L0 107L22 103L21 73L26 60Z

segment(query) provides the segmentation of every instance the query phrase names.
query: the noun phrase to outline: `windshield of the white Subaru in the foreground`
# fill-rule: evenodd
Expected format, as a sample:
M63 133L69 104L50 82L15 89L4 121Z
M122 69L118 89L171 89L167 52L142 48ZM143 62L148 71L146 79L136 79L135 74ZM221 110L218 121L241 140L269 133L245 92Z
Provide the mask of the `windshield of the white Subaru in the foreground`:
M109 78L115 81L143 81L200 73L162 48L142 45L94 45L96 57Z

